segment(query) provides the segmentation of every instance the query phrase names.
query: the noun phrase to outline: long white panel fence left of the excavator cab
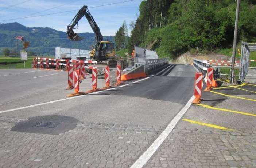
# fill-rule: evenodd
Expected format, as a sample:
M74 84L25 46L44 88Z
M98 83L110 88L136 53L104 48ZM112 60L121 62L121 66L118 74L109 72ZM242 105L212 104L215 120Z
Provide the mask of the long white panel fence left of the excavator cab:
M86 60L90 59L90 51L82 50L82 49L72 49L72 48L61 48L55 47L55 58L71 58L71 59L79 59L86 58Z

